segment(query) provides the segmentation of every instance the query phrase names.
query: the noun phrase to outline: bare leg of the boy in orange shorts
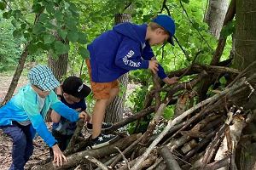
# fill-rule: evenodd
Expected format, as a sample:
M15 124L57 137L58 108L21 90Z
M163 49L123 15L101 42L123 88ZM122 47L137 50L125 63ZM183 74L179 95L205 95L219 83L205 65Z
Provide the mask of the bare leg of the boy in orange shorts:
M105 116L105 111L114 97L119 94L119 88L112 88L109 92L109 99L97 99L92 112L92 134L91 138L95 139L102 132L102 122Z

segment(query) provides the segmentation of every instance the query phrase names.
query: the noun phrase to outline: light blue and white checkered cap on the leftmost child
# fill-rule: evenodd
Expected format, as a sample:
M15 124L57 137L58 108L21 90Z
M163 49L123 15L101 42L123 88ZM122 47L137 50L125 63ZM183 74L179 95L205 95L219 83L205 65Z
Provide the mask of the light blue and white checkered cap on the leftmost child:
M27 77L32 85L44 91L50 91L60 86L60 82L46 65L36 65L28 72Z

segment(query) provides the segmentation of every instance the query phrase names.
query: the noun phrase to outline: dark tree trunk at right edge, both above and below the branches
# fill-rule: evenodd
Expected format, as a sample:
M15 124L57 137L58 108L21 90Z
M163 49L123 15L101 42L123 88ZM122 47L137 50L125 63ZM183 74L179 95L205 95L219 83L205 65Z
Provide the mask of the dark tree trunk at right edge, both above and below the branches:
M235 58L233 66L242 71L256 59L256 1L255 0L236 0L236 42ZM249 71L253 74L255 71ZM255 94L253 94L255 95ZM253 96L252 96L253 97ZM255 105L255 102L254 104ZM247 127L255 124L255 117ZM255 128L248 129L243 133L255 133ZM255 127L255 126L254 126ZM251 131L251 132L250 132ZM247 141L247 144L241 144L240 160L238 160L238 169L255 169L256 154L253 151L256 147L255 140Z

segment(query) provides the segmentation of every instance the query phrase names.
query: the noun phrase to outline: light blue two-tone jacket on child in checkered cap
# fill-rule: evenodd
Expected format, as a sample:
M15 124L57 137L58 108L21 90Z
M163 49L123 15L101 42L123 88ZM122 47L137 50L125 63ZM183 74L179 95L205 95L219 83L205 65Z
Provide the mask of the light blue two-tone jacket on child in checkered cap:
M44 142L52 147L56 140L49 132L44 118L49 111L53 109L61 116L67 118L71 122L76 122L79 119L79 113L64 105L56 96L54 91L50 91L49 95L45 98L44 107L39 112L39 103L37 93L32 89L31 84L20 88L9 102L0 108L0 126L12 125L13 121L32 122L32 136L37 132Z

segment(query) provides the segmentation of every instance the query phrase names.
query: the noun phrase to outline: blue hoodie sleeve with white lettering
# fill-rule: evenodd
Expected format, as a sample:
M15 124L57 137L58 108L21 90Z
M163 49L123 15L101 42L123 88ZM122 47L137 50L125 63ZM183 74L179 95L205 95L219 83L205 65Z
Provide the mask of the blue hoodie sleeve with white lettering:
M138 42L129 37L124 37L115 57L115 65L128 71L148 69L148 60L142 59Z

